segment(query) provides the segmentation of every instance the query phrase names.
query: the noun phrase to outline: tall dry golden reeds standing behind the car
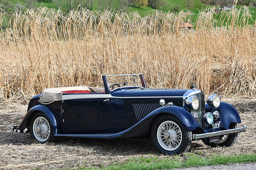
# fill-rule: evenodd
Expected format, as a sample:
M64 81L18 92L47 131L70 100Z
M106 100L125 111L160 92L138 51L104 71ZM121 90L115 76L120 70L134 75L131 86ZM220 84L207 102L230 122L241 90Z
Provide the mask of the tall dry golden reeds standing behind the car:
M143 73L149 87L189 88L205 94L256 94L256 30L247 8L216 18L191 13L16 11L1 30L1 97L28 97L44 88L102 86L101 75ZM3 17L3 16L1 16ZM1 18L2 21L2 18Z

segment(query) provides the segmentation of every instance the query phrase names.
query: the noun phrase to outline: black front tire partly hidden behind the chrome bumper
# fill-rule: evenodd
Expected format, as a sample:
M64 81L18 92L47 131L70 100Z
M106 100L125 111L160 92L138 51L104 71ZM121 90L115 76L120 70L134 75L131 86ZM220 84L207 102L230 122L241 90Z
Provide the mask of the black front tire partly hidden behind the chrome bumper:
M237 123L230 123L229 129L236 129L238 128ZM217 142L212 143L205 143L205 145L211 146L213 148L220 146L220 147L232 147L237 140L238 133L222 135L220 140Z

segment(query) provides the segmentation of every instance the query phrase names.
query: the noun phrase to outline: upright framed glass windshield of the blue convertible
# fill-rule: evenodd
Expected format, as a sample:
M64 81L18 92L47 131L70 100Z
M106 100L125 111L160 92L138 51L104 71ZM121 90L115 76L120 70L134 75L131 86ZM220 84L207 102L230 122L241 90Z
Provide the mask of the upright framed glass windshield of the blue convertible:
M142 74L107 75L110 90L123 87L146 88Z

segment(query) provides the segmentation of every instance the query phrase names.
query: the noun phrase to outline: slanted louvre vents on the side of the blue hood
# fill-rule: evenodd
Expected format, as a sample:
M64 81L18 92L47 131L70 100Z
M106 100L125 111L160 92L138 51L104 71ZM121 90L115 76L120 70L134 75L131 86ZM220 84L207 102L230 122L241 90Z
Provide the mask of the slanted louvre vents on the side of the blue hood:
M141 120L155 109L160 107L159 103L133 103L132 104L136 119Z

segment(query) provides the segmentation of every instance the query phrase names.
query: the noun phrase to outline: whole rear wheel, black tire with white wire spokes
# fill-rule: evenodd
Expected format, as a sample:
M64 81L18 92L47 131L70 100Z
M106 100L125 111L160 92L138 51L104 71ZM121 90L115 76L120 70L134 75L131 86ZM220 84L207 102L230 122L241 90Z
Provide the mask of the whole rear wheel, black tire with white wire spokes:
M54 141L52 124L43 112L33 115L29 122L29 132L33 140L41 143Z

